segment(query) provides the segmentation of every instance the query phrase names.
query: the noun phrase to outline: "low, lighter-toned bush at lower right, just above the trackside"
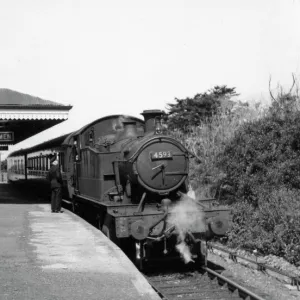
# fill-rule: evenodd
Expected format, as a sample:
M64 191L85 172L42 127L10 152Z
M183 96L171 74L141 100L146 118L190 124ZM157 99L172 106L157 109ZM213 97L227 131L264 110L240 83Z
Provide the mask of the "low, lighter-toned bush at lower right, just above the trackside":
M300 192L284 187L261 191L258 206L247 201L233 205L233 227L228 246L254 249L262 255L300 261Z

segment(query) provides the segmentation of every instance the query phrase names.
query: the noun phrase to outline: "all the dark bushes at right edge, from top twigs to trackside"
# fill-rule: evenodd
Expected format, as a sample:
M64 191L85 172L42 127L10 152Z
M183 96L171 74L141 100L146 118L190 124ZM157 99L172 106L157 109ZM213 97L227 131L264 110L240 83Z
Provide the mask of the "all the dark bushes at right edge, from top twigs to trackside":
M300 112L281 93L268 113L244 123L220 153L222 198L233 204L230 246L300 261Z

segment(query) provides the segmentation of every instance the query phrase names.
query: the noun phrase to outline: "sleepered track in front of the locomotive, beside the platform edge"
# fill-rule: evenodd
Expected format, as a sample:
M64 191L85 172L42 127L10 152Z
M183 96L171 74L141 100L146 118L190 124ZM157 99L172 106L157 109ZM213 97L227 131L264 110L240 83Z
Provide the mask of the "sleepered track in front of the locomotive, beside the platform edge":
M266 300L207 267L146 277L164 300Z

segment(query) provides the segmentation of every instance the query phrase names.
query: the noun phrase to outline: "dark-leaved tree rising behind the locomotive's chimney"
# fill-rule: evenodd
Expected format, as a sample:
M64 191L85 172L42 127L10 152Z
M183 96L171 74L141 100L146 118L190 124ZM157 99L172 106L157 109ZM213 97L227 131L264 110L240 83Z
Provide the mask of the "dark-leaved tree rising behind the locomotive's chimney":
M203 94L196 94L193 98L178 99L176 103L168 103L167 123L171 128L189 131L190 126L198 126L210 119L220 108L232 107L230 99L238 94L234 88L226 85L215 86Z

